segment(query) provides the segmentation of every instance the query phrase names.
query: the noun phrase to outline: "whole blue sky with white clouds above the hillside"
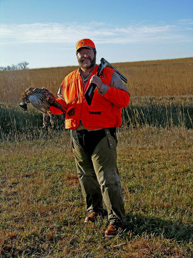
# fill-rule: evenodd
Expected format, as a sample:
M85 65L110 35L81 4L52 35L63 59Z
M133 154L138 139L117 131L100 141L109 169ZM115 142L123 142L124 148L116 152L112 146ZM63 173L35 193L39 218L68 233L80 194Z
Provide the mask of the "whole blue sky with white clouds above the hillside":
M193 56L193 1L0 0L0 66L77 65L94 41L97 63Z

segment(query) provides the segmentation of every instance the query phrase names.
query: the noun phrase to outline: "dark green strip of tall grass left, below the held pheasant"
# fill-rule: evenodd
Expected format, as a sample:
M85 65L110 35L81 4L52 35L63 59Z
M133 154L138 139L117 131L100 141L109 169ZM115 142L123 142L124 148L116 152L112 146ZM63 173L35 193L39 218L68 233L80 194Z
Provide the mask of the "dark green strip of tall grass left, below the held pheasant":
M29 112L23 112L17 105L0 103L0 140L42 139L64 129L64 115L54 116L54 129L46 116L47 125L43 129L42 113L29 105Z

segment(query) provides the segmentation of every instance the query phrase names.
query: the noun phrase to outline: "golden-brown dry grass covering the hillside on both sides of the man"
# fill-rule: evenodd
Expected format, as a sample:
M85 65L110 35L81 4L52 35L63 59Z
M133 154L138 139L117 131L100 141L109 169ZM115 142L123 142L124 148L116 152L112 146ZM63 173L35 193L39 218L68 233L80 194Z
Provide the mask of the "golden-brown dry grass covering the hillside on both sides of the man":
M193 57L113 64L128 78L131 96L193 95ZM55 95L64 77L77 67L2 71L0 99L17 103L28 87L46 87Z

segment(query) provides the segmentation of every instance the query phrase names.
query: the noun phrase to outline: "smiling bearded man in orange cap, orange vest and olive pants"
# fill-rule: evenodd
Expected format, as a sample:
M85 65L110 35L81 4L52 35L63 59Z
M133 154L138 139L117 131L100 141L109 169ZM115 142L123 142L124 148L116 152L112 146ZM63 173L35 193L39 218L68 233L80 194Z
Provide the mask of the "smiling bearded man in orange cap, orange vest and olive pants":
M116 164L116 127L121 126L121 109L129 103L129 93L119 75L106 67L96 76L96 48L90 39L76 44L78 70L63 80L57 101L67 108L65 128L71 129L73 153L86 201L85 223L95 222L103 214L103 200L108 211L106 237L113 237L125 224L121 181ZM96 84L91 106L84 93ZM52 108L53 114L61 113Z

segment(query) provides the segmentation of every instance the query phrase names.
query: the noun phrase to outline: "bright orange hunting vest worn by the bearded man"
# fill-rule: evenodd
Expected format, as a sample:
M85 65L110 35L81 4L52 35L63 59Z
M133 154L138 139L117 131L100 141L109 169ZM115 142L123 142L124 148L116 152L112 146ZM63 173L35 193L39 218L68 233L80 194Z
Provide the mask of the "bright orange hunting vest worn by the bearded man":
M78 70L69 73L63 80L62 97L67 104L65 120L66 129L76 129L80 120L82 120L84 127L87 129L121 126L121 107L112 104L104 96L98 93L97 89L95 90L91 106L89 106L85 100L84 93L90 85L90 78L96 74L97 69L98 65L96 65L91 73L84 91L82 78ZM101 81L109 86L113 72L113 69L105 67L102 76L100 76Z

